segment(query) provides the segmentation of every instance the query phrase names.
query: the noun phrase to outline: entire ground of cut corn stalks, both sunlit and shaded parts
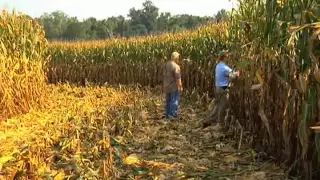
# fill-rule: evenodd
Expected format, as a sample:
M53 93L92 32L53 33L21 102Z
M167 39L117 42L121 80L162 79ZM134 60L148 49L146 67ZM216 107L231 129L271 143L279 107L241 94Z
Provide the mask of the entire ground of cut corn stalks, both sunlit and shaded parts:
M157 120L159 89L63 84L47 90L47 109L2 122L1 180L285 179L282 167L245 140L239 146L231 139L239 133L195 128L208 105L196 93L181 99L179 121L165 122Z

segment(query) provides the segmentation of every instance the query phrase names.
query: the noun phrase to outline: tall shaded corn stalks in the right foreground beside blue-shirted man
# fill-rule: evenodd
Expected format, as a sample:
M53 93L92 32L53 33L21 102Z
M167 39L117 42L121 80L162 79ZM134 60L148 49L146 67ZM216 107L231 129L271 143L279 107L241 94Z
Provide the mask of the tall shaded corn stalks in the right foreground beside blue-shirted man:
M302 179L319 178L320 8L316 0L238 1L229 23L230 48L242 78L233 110L255 147ZM250 86L260 84L257 91Z

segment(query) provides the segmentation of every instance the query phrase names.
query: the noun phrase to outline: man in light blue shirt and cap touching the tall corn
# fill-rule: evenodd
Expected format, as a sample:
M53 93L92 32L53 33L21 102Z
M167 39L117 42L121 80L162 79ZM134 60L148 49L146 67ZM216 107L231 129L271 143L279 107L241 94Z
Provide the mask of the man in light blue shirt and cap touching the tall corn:
M227 64L229 53L222 51L219 54L219 63L215 68L215 107L210 115L203 122L203 128L208 127L212 122L221 122L225 110L229 105L229 81L240 75L239 71L234 72Z

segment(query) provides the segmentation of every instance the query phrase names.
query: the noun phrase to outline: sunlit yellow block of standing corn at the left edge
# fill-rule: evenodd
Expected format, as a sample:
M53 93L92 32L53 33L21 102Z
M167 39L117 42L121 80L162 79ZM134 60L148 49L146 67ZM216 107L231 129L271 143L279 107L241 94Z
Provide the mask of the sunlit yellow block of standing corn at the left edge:
M47 41L25 15L0 15L0 119L43 106Z

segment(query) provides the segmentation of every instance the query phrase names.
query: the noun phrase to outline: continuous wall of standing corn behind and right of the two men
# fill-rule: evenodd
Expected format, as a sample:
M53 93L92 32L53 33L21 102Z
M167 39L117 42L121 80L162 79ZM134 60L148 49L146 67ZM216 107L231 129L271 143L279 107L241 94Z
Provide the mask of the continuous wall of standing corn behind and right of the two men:
M253 146L311 179L319 168L320 8L318 0L240 0L226 24L156 37L98 42L53 42L51 83L156 86L172 51L182 58L187 89L212 91L218 52L232 50L242 78L232 91L233 111L251 132ZM257 91L253 84L261 84ZM319 174L319 173L318 173ZM319 177L319 176L318 176Z

